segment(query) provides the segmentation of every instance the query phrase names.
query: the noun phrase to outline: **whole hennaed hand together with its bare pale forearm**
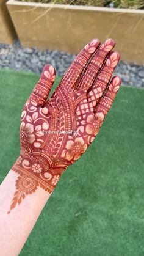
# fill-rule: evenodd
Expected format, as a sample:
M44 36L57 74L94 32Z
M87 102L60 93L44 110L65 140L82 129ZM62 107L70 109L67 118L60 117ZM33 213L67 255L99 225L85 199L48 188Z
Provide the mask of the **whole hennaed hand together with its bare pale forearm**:
M112 51L114 46L112 39L101 45L98 39L89 42L49 100L55 70L51 65L44 67L21 115L20 156L0 186L2 256L20 253L63 171L98 134L121 84L118 76L112 78L120 59L120 54ZM61 125L76 133L46 134L61 130ZM42 128L45 134L41 134Z

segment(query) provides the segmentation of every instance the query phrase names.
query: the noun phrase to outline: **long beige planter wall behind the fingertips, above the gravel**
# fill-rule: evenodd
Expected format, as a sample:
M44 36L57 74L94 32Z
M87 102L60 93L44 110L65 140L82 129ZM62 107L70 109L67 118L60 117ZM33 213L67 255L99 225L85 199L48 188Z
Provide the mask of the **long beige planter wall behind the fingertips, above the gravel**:
M101 42L113 38L121 59L144 64L144 11L48 4L8 2L10 15L23 46L59 49L70 53L79 50L92 38ZM50 5L51 6L51 5Z

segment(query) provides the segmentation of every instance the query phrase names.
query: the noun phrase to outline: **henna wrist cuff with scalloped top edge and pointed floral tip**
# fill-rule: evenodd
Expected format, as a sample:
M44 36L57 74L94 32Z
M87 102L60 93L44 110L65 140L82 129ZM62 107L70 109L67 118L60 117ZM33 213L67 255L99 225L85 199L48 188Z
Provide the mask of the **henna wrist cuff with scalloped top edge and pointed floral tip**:
M32 148L21 145L20 156L12 167L12 170L18 174L18 178L15 181L16 191L10 210L38 188L51 194L66 168L67 164L62 165L59 159L56 161L49 152L38 149L34 151Z

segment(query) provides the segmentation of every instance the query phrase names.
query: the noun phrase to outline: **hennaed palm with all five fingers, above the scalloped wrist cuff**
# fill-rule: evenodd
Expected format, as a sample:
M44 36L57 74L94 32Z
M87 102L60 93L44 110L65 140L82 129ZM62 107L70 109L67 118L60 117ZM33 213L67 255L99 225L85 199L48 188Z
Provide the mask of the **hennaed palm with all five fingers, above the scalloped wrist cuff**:
M51 167L62 163L62 167L66 168L76 161L93 141L110 108L112 100L101 100L101 97L117 65L119 54L109 54L114 43L113 40L107 40L88 63L98 45L98 40L93 40L85 46L65 73L52 97L46 101L43 84L49 90L55 76L54 68L48 66L24 107L21 119L21 146L29 144L33 158L40 152L45 152L45 155L53 159ZM82 75L84 67L86 68ZM119 86L120 79L117 77L109 87L111 97ZM114 87L117 88L114 90ZM40 92L45 93L45 97L38 97L37 93ZM26 130L26 126L32 132L24 139L23 128ZM45 169L49 164L46 160Z

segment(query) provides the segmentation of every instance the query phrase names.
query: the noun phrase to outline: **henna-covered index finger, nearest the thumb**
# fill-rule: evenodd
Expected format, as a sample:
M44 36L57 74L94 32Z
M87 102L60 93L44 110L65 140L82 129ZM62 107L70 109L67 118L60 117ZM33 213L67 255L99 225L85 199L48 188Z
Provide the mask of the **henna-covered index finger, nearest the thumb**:
M76 56L73 63L70 65L68 70L65 72L62 81L65 86L73 88L78 81L79 77L84 70L85 65L87 65L88 60L98 49L100 42L98 39L93 39L87 45L84 46L84 49Z

